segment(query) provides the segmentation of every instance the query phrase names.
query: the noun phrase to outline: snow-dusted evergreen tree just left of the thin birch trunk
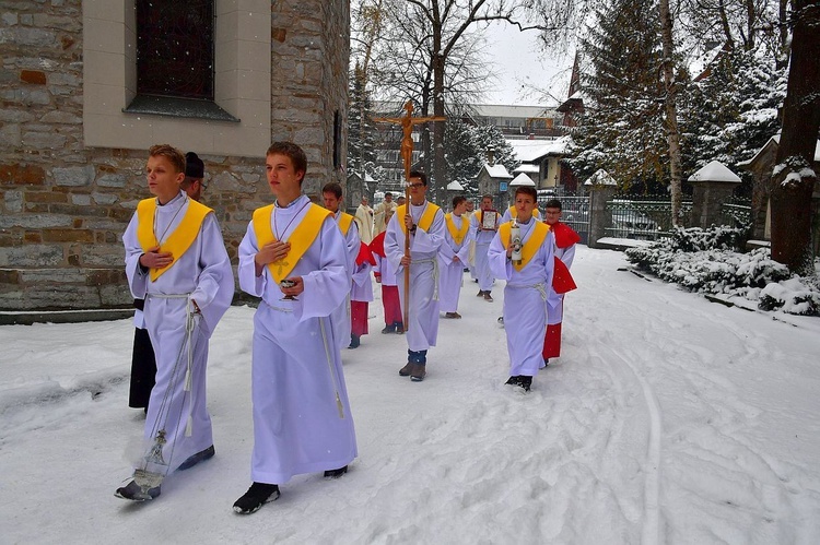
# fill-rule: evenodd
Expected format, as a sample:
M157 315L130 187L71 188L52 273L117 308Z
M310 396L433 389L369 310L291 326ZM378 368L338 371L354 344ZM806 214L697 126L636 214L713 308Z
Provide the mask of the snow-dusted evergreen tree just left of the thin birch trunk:
M660 25L654 0L609 0L582 42L586 112L567 163L581 179L606 169L624 189L668 177Z

